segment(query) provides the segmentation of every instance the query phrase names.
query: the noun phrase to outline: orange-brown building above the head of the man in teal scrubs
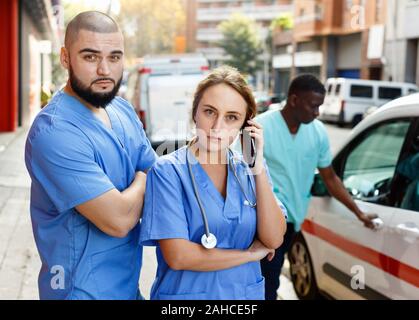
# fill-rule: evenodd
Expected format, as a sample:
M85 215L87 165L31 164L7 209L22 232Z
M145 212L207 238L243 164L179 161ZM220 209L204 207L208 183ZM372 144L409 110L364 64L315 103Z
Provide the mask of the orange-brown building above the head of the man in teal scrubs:
M301 73L322 81L383 78L385 0L295 0L293 16L292 30L274 31L277 94Z

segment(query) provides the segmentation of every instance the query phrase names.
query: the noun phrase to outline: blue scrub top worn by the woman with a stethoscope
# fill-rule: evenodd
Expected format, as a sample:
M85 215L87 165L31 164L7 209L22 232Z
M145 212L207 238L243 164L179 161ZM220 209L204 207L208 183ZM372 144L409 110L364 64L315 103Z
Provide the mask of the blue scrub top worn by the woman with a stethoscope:
M140 241L157 246L157 275L151 299L264 299L264 278L260 263L210 271L173 270L159 248L160 239L186 239L201 244L202 215L194 194L183 147L161 157L147 175L147 188L141 222ZM240 158L235 154L234 158ZM217 248L247 249L256 234L256 209L245 205L240 186L228 166L226 199L219 193L196 158L189 155L199 195L206 209L210 232ZM195 160L195 161L194 161ZM236 162L247 197L255 202L253 176L242 160Z

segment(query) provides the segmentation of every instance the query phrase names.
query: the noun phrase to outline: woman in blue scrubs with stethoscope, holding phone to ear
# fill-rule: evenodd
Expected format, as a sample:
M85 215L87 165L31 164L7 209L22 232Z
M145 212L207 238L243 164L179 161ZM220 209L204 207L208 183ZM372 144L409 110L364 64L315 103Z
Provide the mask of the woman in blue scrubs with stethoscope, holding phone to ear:
M286 222L255 113L240 73L213 70L195 92L196 137L149 171L140 242L157 247L151 299L264 299L259 261L281 245ZM229 148L241 129L256 142L252 168Z

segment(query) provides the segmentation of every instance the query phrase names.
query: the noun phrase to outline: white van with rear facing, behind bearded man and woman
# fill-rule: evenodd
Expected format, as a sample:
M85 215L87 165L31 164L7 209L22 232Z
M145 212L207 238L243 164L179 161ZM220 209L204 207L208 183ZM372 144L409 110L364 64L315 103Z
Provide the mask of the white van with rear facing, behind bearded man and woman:
M145 56L131 71L126 98L158 153L190 138L193 94L208 70L203 55L179 54Z

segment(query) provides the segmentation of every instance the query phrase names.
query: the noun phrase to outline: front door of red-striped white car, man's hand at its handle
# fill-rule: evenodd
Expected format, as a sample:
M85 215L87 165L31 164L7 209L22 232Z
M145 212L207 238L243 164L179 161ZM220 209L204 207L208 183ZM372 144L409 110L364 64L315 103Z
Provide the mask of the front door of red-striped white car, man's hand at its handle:
M395 170L411 119L386 121L364 130L339 153L334 167L356 204L379 215L384 226L373 231L331 197L313 197L304 227L317 239L319 287L337 298L385 299L389 296L386 239L393 232L389 205ZM312 224L307 228L307 224ZM316 234L317 233L317 234Z

